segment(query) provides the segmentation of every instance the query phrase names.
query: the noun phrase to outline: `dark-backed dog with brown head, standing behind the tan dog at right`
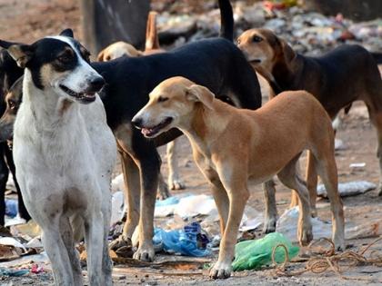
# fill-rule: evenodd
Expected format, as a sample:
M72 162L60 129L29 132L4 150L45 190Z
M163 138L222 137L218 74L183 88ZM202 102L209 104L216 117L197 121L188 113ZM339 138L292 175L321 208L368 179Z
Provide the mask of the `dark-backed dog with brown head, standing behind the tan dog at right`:
M382 81L372 54L359 45L344 44L321 57L305 57L266 29L247 30L238 37L237 45L275 94L285 90L307 90L323 104L332 120L342 108L363 100L377 127L377 157L382 173ZM315 214L317 173L311 154L308 154L307 188ZM382 184L379 185L381 193ZM291 206L296 204L294 193Z

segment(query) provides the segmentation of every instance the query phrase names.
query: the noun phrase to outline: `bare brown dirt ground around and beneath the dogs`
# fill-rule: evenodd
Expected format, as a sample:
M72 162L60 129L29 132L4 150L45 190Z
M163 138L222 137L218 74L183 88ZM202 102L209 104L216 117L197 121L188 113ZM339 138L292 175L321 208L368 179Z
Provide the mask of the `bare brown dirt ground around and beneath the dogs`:
M9 1L0 0L0 38L11 41L32 43L44 35L54 35L66 27L72 27L81 39L79 29L80 14L78 1L74 0L32 0ZM367 180L377 184L379 167L376 157L377 136L374 128L368 121L367 109L364 104L353 105L350 113L344 116L343 123L337 133L337 138L345 143L345 150L336 154L339 182ZM180 138L181 155L180 171L186 182L186 192L209 193L206 180L196 168L192 160L190 145L185 137ZM164 147L160 148L163 154ZM163 172L166 175L166 157L163 156ZM303 158L303 164L305 158ZM354 171L350 163L366 163L360 170ZM276 200L278 212L282 213L290 202L290 191L281 186L276 186ZM263 194L261 187L250 184L251 198L248 202L258 211L264 210ZM174 192L176 193L176 192ZM357 225L367 225L367 222L381 220L382 197L377 196L377 191L367 192L364 195L344 199L346 222ZM318 217L330 220L329 204L325 200L317 203ZM354 249L372 242L374 238L347 241ZM377 246L377 251L382 251L382 243ZM303 263L294 263L292 268L303 268ZM339 278L337 274L327 271L323 274L307 272L297 277L279 277L272 269L263 271L244 271L235 273L234 277L226 281L210 281L206 275L198 271L195 275L177 272L177 275L167 275L164 272L144 269L124 269L116 267L116 274L122 274L115 285L370 285L380 284L382 281L382 268L362 266L354 267L344 274L356 281L347 281ZM206 271L203 271L206 274ZM374 282L373 282L374 281ZM53 279L50 272L26 276L23 278L0 277L0 285L52 285Z

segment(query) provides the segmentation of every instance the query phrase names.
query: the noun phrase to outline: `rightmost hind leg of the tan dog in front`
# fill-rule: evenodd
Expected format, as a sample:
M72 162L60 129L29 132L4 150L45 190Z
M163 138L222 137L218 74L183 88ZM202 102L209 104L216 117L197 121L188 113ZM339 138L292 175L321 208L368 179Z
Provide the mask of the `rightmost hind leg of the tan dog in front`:
M321 146L323 147L323 146ZM344 210L338 192L337 165L334 157L334 147L319 154L316 160L317 173L327 189L333 221L333 242L337 250L345 250Z

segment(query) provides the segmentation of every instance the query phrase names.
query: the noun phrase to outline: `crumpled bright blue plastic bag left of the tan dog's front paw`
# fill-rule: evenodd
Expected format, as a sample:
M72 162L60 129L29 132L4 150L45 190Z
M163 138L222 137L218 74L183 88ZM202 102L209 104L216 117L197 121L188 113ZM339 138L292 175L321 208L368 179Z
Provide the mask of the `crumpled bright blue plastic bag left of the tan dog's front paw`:
M163 250L180 253L186 256L206 256L210 253L206 244L209 242L205 234L201 233L200 224L193 222L182 230L166 232L156 228L153 242Z

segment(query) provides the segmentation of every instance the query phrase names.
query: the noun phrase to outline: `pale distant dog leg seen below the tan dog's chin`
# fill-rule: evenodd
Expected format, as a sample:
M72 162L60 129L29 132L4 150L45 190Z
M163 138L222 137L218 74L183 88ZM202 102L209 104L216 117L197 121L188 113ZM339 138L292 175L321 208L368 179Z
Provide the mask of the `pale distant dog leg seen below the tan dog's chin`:
M177 156L179 154L179 141L167 143L166 154L168 163L168 187L171 190L182 190L185 188L185 183L182 182L179 175L179 166L177 162Z

